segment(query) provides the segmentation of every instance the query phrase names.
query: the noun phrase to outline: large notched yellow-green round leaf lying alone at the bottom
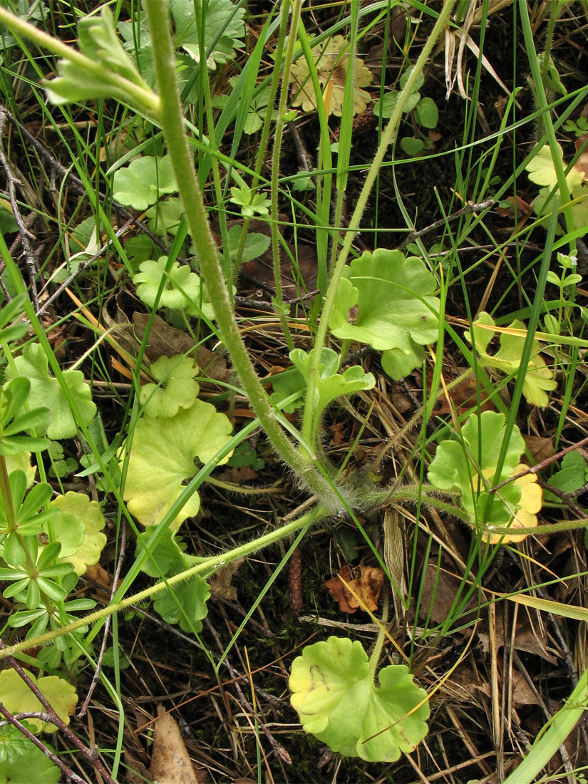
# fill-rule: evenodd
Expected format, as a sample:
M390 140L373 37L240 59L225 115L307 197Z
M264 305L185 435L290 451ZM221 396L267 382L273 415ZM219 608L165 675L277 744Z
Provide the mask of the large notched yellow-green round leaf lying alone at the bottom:
M332 751L394 762L425 737L429 703L404 664L384 667L378 679L379 687L358 640L329 637L292 663L290 701L303 728Z

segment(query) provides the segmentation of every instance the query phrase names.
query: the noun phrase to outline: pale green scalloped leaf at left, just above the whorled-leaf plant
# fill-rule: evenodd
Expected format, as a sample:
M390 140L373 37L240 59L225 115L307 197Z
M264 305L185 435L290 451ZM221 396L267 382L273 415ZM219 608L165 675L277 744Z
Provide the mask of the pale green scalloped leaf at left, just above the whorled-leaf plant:
M31 392L27 402L31 408L46 406L49 408L49 438L72 438L78 432L74 416L65 397L60 383L49 376L49 361L38 343L29 343L24 347L20 357L14 358L14 365L19 376L31 382ZM6 379L13 379L12 368L6 368ZM89 425L96 416L96 404L92 401L92 392L84 381L84 374L79 370L64 370L64 383L74 397L82 422Z

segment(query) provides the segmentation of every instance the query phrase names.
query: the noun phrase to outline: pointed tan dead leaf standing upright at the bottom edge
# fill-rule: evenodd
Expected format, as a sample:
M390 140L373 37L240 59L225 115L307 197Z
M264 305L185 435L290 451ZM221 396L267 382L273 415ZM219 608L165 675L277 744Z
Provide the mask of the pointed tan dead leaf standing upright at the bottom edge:
M158 706L149 773L161 784L198 784L180 728L163 706Z

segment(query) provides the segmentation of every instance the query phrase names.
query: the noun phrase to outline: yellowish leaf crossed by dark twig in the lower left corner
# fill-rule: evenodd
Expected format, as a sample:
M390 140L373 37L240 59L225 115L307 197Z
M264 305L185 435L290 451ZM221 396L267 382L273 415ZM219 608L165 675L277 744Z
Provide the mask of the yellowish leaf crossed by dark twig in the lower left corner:
M65 724L69 724L70 716L74 713L78 702L78 695L71 683L56 675L48 675L37 680L32 673L28 673L28 677L37 684L39 691L60 719ZM0 672L0 702L3 702L10 713L33 713L45 710L16 670ZM55 724L49 724L41 719L27 719L27 722L31 724L35 733L57 731Z

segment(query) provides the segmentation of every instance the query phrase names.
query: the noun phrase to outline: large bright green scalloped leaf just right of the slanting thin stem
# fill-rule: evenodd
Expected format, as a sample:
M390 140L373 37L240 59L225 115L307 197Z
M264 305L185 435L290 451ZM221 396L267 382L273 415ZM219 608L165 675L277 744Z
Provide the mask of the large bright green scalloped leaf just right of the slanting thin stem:
M341 339L369 343L373 348L396 350L405 360L401 378L422 361L426 343L437 340L439 300L434 296L434 275L416 256L397 250L376 249L354 259L340 282L328 325ZM357 305L354 323L349 310Z

